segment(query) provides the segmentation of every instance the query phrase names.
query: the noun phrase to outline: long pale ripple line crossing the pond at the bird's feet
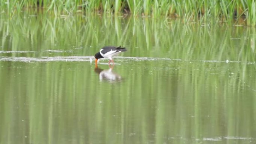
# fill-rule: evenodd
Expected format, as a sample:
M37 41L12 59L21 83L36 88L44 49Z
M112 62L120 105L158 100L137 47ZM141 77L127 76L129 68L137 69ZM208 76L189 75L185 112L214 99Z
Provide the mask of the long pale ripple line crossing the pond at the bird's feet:
M107 58L100 59L108 60ZM243 62L243 61L215 61L215 60L188 60L188 59L171 59L171 58L150 58L150 57L124 57L124 56L116 56L115 61L187 61L187 62L225 62L225 63L245 63L245 64L256 64L255 62ZM20 62L50 62L50 61L94 61L94 56L42 56L39 58L33 57L0 57L0 61L20 61Z

